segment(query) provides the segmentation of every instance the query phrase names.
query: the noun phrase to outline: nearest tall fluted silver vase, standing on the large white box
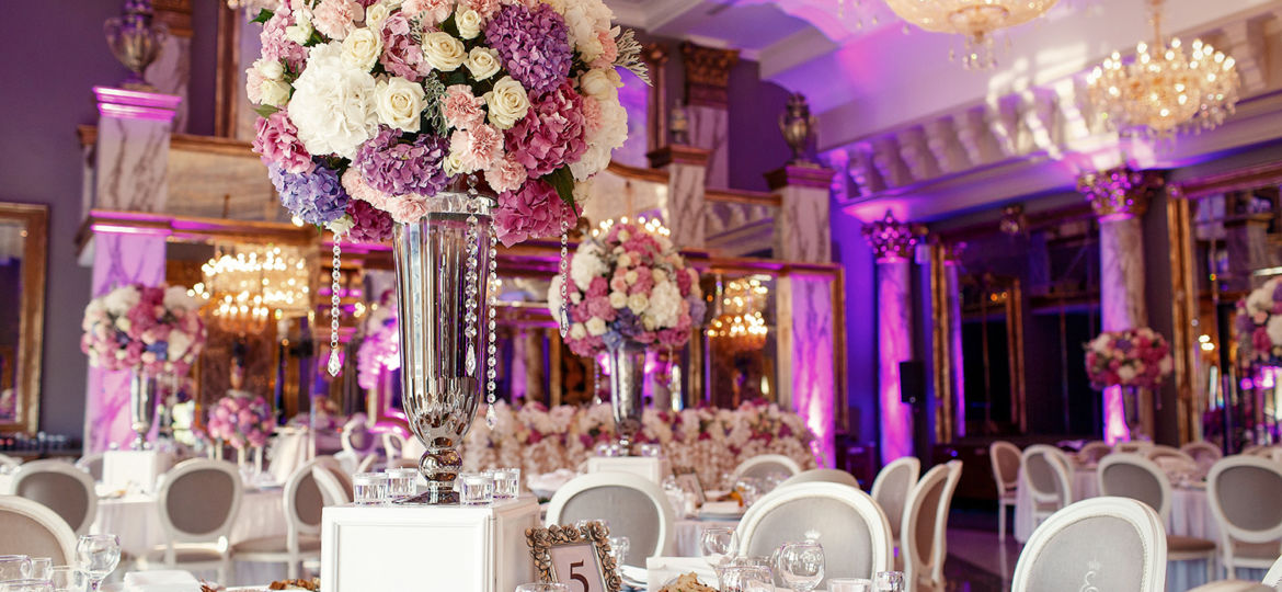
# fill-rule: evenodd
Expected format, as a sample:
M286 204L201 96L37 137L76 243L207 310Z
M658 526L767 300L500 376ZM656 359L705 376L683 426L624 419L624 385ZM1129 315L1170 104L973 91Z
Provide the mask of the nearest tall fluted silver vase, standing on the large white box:
M401 401L427 451L418 466L428 491L408 504L456 504L458 446L485 384L488 334L488 202L440 192L433 211L397 224L394 237L400 311ZM474 258L474 259L473 259Z

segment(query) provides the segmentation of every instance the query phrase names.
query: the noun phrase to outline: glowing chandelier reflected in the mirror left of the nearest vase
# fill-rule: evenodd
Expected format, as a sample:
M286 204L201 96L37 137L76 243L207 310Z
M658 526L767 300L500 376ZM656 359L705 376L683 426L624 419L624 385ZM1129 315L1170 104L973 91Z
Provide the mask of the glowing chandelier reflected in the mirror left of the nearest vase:
M277 245L221 245L200 267L191 295L224 329L262 331L269 320L300 317L312 308L310 264L303 250Z

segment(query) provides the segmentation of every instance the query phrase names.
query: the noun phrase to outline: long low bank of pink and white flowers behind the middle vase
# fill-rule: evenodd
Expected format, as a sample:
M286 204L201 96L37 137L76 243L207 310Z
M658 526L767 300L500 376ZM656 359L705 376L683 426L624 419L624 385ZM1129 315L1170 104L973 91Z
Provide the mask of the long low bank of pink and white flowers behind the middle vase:
M559 405L531 402L514 409L495 404L494 428L478 422L463 442L467 470L520 466L526 474L576 469L597 443L614 442L609 404ZM706 488L724 487L722 475L763 454L781 454L804 469L815 466L810 442L814 433L800 415L767 402L745 402L738 409L646 409L638 442L658 443L677 468L694 469Z

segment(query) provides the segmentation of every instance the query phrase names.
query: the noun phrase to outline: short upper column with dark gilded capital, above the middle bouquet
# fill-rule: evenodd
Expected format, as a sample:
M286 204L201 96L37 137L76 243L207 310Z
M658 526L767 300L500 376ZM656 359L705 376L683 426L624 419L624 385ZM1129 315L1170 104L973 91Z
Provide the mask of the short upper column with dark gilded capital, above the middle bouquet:
M729 187L729 70L738 50L681 44L690 144L709 150L708 186Z

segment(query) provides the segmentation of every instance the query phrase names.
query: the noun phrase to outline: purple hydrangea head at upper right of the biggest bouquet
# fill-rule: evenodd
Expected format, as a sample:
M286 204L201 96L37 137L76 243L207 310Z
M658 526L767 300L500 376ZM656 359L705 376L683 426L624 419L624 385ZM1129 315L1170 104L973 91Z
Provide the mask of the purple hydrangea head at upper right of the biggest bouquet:
M503 69L532 96L569 77L573 53L565 21L546 4L533 10L520 4L503 6L486 27L485 41L499 53Z

